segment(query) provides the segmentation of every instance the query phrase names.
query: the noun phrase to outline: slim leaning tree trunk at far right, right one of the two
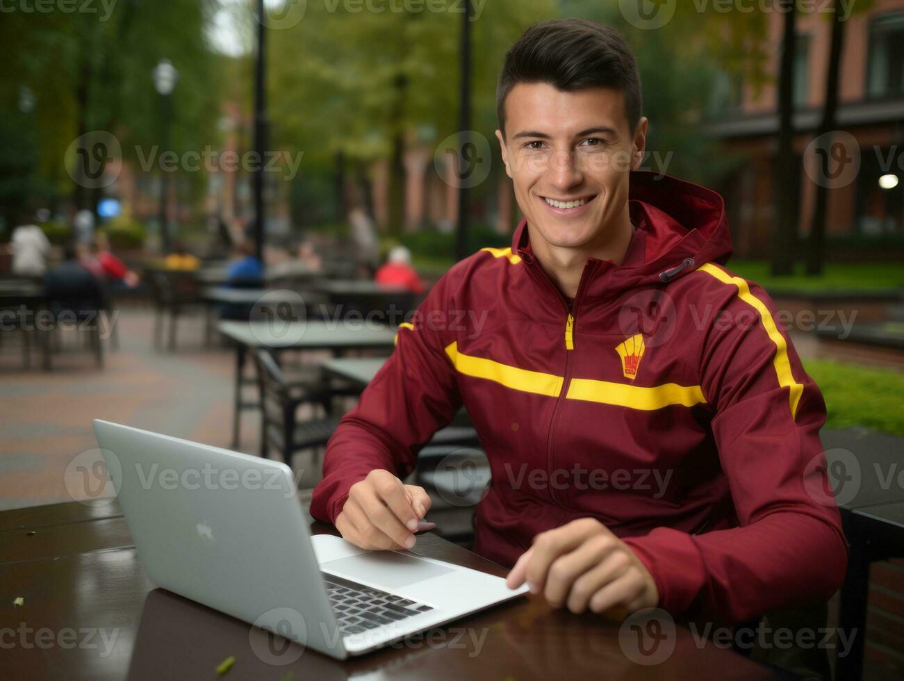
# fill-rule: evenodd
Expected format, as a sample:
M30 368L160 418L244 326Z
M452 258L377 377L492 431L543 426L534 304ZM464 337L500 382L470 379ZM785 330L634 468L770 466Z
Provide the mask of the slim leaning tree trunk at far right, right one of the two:
M817 136L824 136L820 146L824 147L827 156L831 158L832 131L835 129L835 112L838 110L838 75L841 65L842 48L844 43L844 22L842 21L838 0L833 2L832 16L832 47L829 52L829 70L825 78L825 101L823 103L823 120L819 125ZM825 182L816 185L816 204L813 211L813 220L810 222L810 237L807 241L806 268L807 276L817 276L823 273L823 260L825 257L825 230L828 217L828 187Z

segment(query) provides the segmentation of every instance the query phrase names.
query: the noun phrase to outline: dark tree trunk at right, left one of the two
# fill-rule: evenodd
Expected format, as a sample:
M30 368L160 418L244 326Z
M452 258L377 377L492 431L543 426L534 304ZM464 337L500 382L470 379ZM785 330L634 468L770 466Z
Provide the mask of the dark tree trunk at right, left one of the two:
M796 4L795 4L796 5ZM796 6L785 14L785 32L782 37L781 66L778 79L778 155L773 177L773 197L776 206L772 222L770 251L772 275L791 274L794 269L794 247L797 225L793 215L791 192L800 191L791 186L791 166L794 163L794 57L796 42Z

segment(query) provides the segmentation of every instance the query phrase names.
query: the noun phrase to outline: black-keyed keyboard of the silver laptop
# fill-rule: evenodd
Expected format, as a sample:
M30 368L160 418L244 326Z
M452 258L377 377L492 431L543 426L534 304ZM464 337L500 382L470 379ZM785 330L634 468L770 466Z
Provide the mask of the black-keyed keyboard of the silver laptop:
M326 594L344 634L360 634L384 624L404 620L421 612L433 610L430 606L381 591L358 582L323 572Z

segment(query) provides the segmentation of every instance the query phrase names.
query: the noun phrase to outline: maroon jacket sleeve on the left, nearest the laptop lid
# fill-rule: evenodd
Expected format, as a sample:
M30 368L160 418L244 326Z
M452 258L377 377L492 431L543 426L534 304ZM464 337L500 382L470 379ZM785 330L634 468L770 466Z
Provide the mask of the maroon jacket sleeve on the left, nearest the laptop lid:
M344 415L324 455L324 478L311 499L311 515L330 523L348 490L374 468L405 478L417 452L461 407L455 370L446 355L447 277L440 279L401 324L396 347L352 411Z

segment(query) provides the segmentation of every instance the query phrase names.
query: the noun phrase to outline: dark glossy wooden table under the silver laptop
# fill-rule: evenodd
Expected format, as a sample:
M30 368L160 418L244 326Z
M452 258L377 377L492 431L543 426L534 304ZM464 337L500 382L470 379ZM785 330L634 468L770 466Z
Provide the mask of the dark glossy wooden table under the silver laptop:
M314 523L312 532L334 528ZM505 572L432 534L421 534L415 550ZM0 602L0 677L10 679L218 679L227 657L235 663L224 679L771 677L681 626L662 663L638 664L616 622L551 610L536 597L338 662L155 589L115 501L0 513Z

